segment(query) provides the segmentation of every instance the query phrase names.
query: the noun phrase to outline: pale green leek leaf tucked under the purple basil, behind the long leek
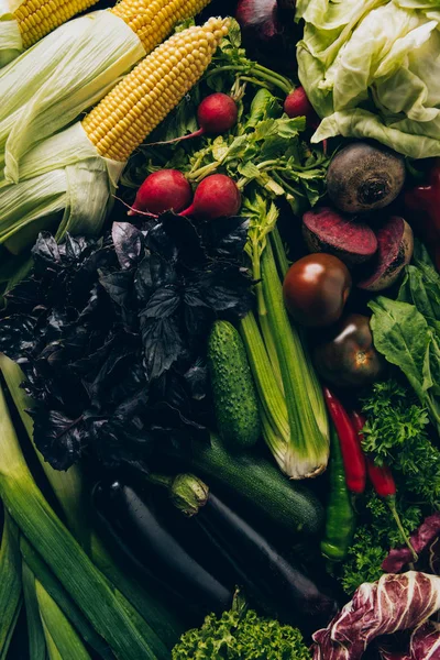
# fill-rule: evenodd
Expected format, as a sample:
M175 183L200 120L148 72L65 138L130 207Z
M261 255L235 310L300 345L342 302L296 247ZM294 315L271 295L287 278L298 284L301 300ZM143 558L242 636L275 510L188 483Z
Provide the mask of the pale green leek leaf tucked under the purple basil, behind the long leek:
M59 472L44 460L33 441L33 421L26 410L34 404L21 387L25 380L24 374L20 366L3 353L0 353L0 370L47 481L59 502L67 526L77 541L88 551L90 548L90 530L87 524L89 507L81 470L77 465L73 465L66 472Z

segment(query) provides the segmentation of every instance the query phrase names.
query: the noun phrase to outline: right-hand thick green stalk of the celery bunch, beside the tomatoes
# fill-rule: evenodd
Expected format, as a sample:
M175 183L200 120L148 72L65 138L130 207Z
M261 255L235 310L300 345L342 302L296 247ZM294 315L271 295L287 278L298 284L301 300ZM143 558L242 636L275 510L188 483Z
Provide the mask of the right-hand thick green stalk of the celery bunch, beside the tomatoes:
M286 473L292 479L317 476L327 468L329 460L329 437L321 432L317 417L319 408L314 408L317 399L316 382L311 365L305 355L299 336L290 324L283 300L272 245L267 242L262 254L263 292L268 309L268 318L282 370L287 415L290 427L290 441L286 447ZM312 396L310 396L314 388ZM322 407L323 409L323 407ZM322 424L322 420L320 420Z

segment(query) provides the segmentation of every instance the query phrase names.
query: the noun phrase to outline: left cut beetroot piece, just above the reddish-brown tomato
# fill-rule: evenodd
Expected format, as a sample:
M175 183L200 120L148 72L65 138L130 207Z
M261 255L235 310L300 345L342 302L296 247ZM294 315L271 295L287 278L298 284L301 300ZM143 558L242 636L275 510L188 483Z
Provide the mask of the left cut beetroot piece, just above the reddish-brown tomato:
M329 207L304 215L302 234L310 252L334 254L346 265L362 264L377 250L376 234L369 224Z

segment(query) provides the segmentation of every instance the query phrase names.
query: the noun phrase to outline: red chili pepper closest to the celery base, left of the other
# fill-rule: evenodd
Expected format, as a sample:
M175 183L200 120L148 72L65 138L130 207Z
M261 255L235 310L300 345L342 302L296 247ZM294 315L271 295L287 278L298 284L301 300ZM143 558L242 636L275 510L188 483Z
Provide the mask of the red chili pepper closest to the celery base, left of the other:
M345 408L328 387L323 388L323 396L341 443L346 487L360 495L365 491L366 466L359 436Z

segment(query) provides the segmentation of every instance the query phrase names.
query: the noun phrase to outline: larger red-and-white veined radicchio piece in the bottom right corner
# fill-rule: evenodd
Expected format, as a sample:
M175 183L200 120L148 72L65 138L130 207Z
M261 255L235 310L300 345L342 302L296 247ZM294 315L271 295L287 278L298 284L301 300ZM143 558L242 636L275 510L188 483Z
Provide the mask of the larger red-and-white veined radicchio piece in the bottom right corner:
M360 660L376 637L418 628L439 608L437 575L417 571L383 575L378 582L362 584L329 626L315 632L314 660Z

